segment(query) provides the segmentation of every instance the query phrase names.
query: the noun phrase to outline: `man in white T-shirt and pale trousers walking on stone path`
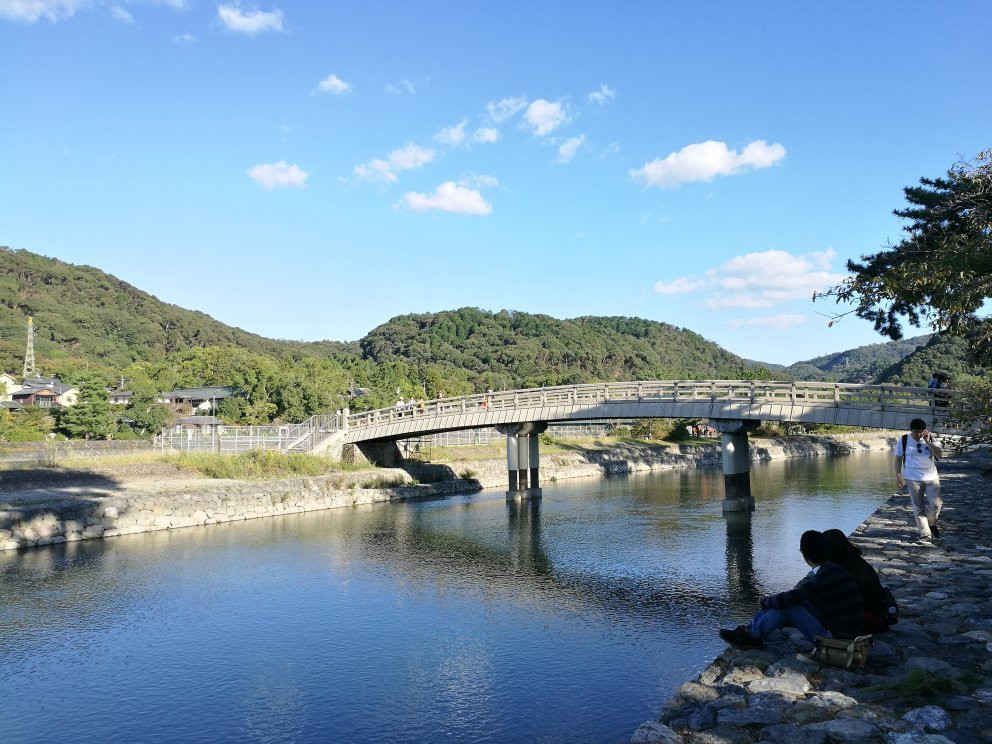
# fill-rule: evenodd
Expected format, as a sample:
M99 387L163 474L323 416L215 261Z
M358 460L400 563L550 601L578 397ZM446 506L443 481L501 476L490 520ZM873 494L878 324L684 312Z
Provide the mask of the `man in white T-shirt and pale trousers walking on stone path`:
M923 419L909 422L909 434L896 440L896 484L909 490L913 505L913 518L920 532L920 539L930 541L940 538L937 517L943 504L940 498L940 475L937 460L943 457L940 442L927 431Z

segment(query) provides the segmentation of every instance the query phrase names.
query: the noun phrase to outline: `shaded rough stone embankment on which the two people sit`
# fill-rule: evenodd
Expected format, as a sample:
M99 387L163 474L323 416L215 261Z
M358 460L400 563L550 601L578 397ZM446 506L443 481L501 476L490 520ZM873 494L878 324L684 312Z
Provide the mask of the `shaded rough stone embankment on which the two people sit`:
M992 742L990 467L977 455L942 463L943 534L934 544L916 539L906 496L852 534L900 605L866 667L804 664L796 653L809 644L794 629L778 631L761 650L728 647L632 741Z

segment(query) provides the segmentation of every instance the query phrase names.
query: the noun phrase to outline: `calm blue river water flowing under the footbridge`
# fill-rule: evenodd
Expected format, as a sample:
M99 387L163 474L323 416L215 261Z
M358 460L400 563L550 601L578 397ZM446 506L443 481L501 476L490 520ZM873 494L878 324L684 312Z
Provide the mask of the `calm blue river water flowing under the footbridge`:
M0 742L627 741L850 531L891 457L503 491L0 553Z

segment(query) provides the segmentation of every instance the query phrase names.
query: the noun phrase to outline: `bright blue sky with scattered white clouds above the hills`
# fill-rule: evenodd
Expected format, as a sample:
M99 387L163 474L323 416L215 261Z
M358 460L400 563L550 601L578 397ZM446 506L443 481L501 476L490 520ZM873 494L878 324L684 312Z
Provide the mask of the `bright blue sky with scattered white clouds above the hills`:
M0 244L274 338L462 306L788 364L992 147L987 2L0 0ZM916 332L913 331L913 334ZM912 335L912 334L910 334Z

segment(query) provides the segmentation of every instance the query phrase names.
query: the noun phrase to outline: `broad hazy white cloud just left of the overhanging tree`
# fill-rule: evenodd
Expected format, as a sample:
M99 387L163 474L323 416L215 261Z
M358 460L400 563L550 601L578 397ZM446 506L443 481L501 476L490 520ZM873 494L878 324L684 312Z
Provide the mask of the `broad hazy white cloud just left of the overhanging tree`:
M795 255L763 251L737 256L709 269L704 276L685 276L655 284L659 294L711 290L704 301L710 310L759 309L791 300L810 299L814 292L833 286L844 274L830 271L837 253L833 248Z

